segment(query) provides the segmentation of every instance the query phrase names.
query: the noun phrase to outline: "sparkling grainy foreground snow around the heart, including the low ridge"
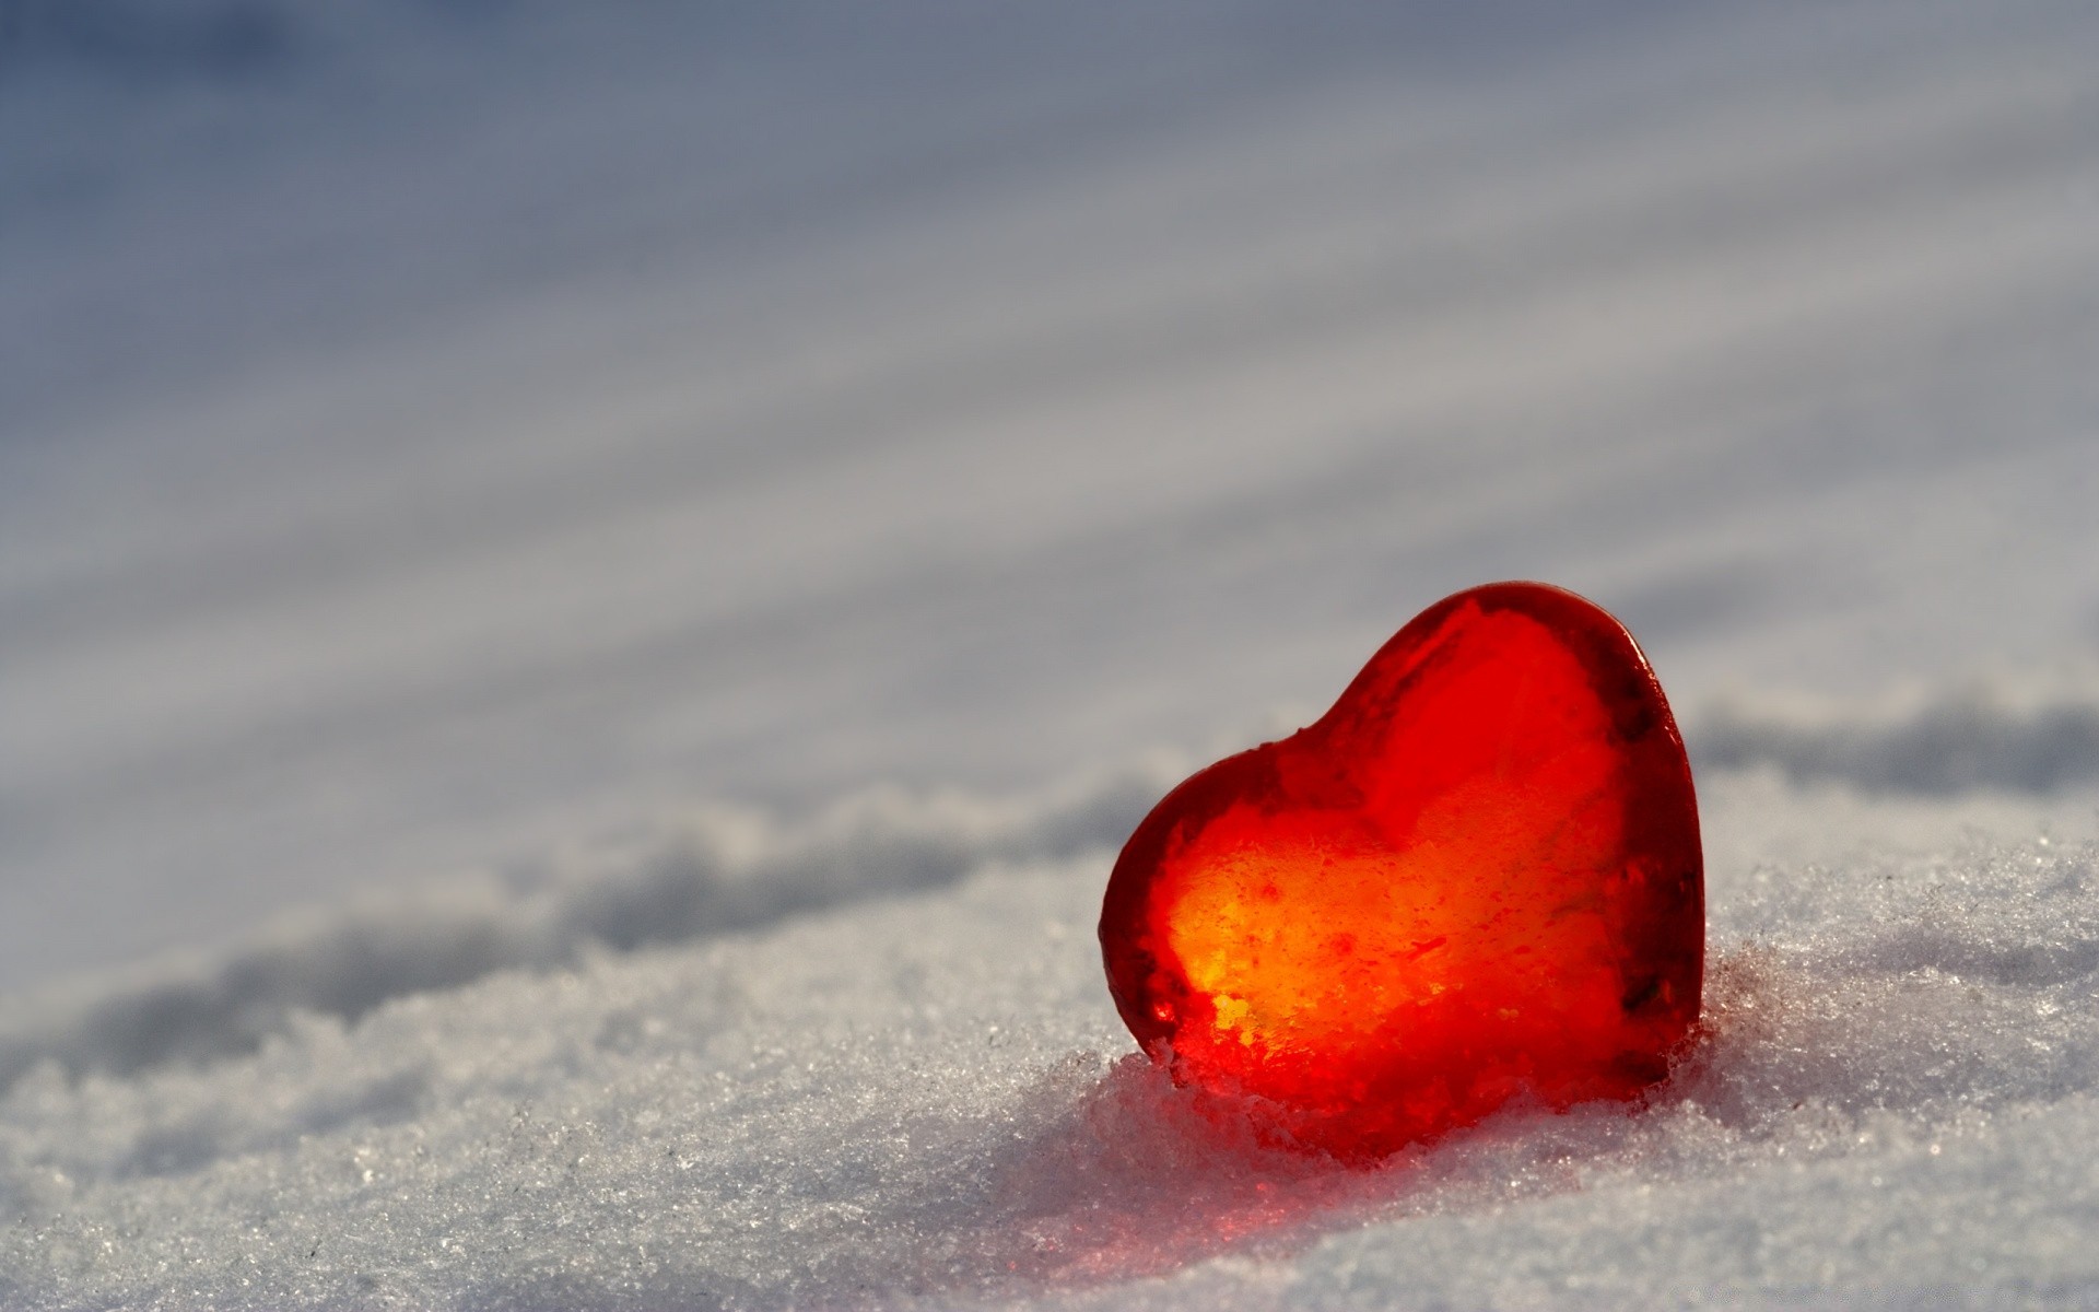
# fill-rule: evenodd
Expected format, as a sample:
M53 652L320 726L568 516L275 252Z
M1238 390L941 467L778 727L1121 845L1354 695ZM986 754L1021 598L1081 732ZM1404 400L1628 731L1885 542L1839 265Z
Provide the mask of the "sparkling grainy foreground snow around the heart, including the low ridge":
M1350 1171L1129 1054L1091 922L1150 796L716 821L437 917L489 945L451 987L382 989L388 953L418 968L414 919L346 917L92 1003L218 1008L178 1052L46 1001L0 1098L0 1302L1910 1306L2099 1281L2093 844L1918 854L1858 823L1914 829L1895 802L1709 779L1715 970L1671 1083ZM1870 850L1772 859L1837 831ZM269 970L248 999L279 1012L243 1029Z

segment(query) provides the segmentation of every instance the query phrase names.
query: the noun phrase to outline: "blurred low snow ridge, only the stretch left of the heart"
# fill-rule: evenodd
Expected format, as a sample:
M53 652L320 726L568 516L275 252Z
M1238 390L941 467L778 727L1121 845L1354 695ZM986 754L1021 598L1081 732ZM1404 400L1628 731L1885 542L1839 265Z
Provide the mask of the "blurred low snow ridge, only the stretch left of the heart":
M500 970L691 943L844 903L940 888L991 863L1117 846L1171 781L1133 766L1041 798L877 789L808 825L712 808L657 833L315 911L222 957L151 961L0 999L0 1087L44 1060L128 1075L254 1052L298 1014L355 1020Z

